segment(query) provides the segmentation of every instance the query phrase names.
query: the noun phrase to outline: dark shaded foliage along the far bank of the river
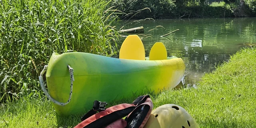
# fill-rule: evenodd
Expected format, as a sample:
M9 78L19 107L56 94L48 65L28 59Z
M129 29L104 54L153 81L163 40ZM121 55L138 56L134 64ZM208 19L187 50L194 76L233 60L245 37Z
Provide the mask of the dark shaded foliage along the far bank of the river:
M244 1L248 6L245 13L248 13L249 16L256 16L256 1ZM234 10L239 7L240 0L212 2L210 5L206 4L204 0L115 0L115 3L119 3L115 5L122 6L119 9L127 14L138 13L136 16L123 16L124 19L223 18L235 17Z

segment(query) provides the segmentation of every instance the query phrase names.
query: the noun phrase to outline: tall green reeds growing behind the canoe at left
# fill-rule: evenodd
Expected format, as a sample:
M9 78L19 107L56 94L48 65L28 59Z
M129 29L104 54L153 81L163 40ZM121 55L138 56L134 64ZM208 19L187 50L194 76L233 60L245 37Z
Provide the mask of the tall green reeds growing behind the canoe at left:
M118 47L111 0L0 0L0 102L41 94L53 52L112 56Z

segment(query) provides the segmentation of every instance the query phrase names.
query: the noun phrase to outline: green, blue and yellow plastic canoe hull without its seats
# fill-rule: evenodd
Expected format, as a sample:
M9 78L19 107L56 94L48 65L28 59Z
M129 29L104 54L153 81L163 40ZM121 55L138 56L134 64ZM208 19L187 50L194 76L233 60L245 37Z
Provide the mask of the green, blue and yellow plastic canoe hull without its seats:
M53 104L60 115L84 114L94 100L111 102L144 89L158 92L174 88L182 79L185 64L181 58L170 60L126 60L96 54L53 53L46 81L50 96L66 102L70 94L70 74L74 69L73 93L66 106Z

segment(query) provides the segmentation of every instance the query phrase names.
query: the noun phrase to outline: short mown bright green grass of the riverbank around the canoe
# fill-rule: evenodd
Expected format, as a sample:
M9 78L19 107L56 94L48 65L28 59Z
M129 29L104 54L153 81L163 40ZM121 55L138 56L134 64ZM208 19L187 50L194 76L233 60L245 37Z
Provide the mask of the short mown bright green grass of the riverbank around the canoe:
M180 105L196 119L201 128L256 127L255 56L256 49L242 50L232 56L228 63L206 74L197 88L167 90L153 95L154 108L162 104ZM126 102L132 102L135 97ZM45 99L20 99L0 108L1 128L70 128L80 122L79 118L59 117Z

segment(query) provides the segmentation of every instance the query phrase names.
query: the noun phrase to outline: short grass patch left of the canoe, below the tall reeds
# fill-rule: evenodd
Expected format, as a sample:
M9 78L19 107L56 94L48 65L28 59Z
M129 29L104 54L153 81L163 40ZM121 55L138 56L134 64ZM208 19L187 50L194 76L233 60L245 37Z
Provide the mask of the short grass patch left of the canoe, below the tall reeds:
M20 99L1 107L1 128L56 128L79 123L78 116L59 117L49 100ZM59 125L60 126L59 126ZM73 126L72 126L73 125Z

